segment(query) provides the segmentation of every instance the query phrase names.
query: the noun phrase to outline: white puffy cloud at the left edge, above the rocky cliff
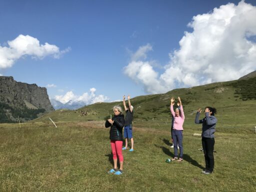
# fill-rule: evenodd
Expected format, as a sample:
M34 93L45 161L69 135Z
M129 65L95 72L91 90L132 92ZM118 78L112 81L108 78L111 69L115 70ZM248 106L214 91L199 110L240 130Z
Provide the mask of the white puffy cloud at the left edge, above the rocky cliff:
M7 41L8 46L0 46L0 68L11 67L20 57L30 55L32 58L42 59L47 55L59 58L70 50L70 47L59 50L54 44L45 42L40 44L37 38L29 35L18 35L15 39Z

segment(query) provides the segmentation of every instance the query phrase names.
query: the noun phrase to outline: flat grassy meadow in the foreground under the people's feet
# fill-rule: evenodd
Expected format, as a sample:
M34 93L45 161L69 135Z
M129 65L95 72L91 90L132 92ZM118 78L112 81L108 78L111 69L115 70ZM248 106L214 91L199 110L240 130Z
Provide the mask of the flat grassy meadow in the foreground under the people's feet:
M0 191L255 191L255 133L242 127L215 138L215 168L204 175L200 125L184 130L184 160L173 156L169 128L134 128L124 173L110 175L109 129L79 122L0 124ZM218 128L217 128L218 129Z

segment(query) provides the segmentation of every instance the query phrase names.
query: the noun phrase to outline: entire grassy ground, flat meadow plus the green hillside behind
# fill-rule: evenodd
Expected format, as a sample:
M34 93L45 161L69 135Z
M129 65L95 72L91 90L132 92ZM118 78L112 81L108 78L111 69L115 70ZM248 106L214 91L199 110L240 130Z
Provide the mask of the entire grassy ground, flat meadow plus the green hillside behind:
M113 162L103 127L121 102L56 110L21 127L0 123L0 191L256 191L255 80L241 86L229 81L132 98L135 151L123 151L122 175L107 173ZM166 163L173 157L170 96L183 101L184 160ZM201 137L192 136L201 132L195 112L207 105L217 108L218 119L210 175L201 173Z

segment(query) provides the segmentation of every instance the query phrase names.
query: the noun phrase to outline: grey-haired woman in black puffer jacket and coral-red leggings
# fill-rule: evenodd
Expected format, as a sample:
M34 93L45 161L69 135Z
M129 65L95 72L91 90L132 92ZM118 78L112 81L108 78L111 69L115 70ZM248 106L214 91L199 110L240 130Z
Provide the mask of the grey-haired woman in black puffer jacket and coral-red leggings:
M122 174L123 156L122 156L122 128L124 126L124 116L120 106L113 107L114 116L105 122L105 127L110 126L109 138L113 154L114 168L109 170L109 173ZM117 155L116 155L117 154ZM120 168L117 169L117 156L119 158Z

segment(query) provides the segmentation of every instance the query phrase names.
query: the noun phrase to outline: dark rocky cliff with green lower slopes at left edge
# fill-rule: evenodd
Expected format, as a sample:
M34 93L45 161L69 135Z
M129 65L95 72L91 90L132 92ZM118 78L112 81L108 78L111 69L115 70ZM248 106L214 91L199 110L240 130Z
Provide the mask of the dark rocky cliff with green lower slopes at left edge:
M17 121L18 116L25 121L53 110L45 87L0 76L0 122Z

